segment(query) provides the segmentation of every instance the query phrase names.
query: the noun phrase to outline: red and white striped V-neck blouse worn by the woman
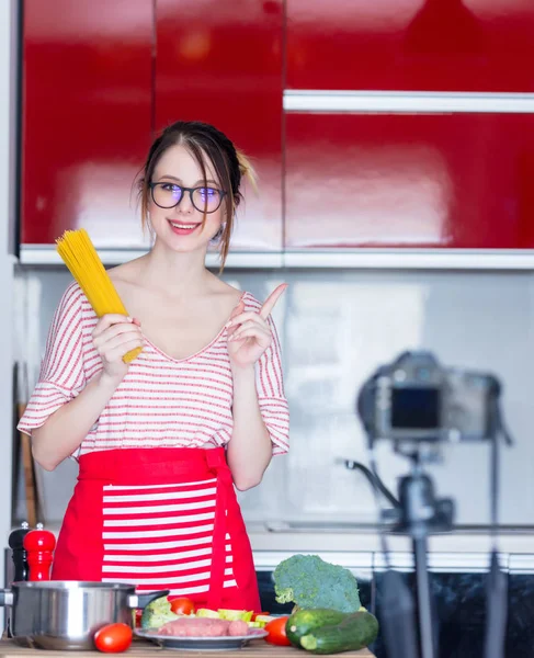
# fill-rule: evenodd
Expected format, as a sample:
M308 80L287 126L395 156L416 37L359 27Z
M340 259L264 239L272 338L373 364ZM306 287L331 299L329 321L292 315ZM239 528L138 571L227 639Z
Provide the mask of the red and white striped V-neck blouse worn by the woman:
M243 293L246 310L261 304ZM102 370L92 343L98 318L77 283L65 292L48 333L39 381L19 430L31 434L75 398ZM257 364L258 400L273 454L288 449L289 413L276 329ZM121 447L200 447L228 443L232 431L232 377L224 328L203 350L172 359L145 339L143 352L73 456Z

